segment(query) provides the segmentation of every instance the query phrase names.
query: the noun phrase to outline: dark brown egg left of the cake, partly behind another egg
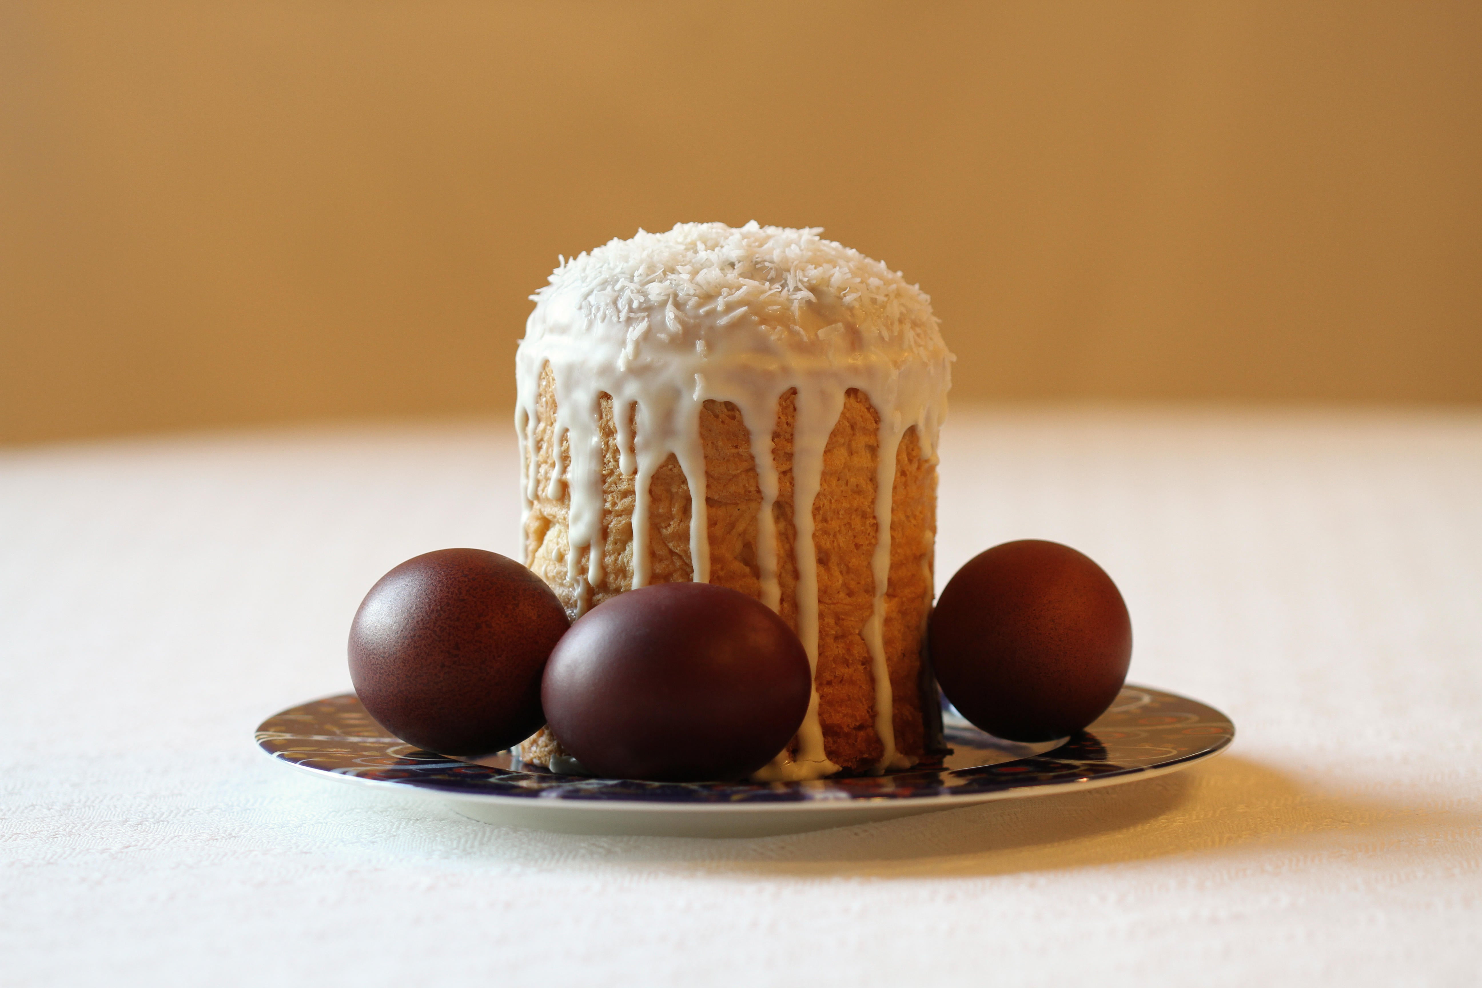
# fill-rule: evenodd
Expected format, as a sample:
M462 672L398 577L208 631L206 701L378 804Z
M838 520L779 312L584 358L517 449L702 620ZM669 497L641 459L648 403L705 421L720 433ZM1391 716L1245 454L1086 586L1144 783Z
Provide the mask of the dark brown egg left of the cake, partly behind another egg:
M350 625L350 678L393 735L477 757L545 723L541 672L566 612L541 579L483 550L440 550L382 576Z

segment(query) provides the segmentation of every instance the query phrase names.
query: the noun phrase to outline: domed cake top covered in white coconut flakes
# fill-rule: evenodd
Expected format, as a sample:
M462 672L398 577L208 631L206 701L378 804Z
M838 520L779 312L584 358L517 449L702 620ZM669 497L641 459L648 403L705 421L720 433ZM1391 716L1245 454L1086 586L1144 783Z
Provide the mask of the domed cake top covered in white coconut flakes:
M550 321L622 326L634 344L652 329L662 344L702 345L754 326L787 350L836 341L917 360L947 357L931 296L820 233L756 222L639 230L562 258L550 284L531 296L544 316L532 316L531 329L536 321L541 329Z

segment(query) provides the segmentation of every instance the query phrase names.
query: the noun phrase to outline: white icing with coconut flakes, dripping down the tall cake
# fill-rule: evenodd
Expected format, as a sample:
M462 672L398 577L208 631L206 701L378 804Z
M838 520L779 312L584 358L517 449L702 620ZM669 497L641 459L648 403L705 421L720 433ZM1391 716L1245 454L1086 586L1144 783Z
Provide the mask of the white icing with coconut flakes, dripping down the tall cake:
M532 296L516 356L516 430L525 447L525 510L536 496L535 415L539 378L556 384L554 437L566 438L569 471L556 458L548 496L571 495L568 573L578 612L606 579L602 533L602 440L599 395L614 400L621 470L636 474L633 585L649 576L648 486L670 453L691 492L694 579L710 578L705 520L705 458L700 410L705 400L731 401L751 434L762 489L757 569L762 600L780 609L778 545L772 507L778 473L772 431L778 398L796 390L793 504L797 561L797 631L809 664L818 664L818 573L814 498L823 480L824 447L858 388L880 416L876 474L877 541L871 558L874 609L864 628L874 690L876 730L885 748L876 772L904 767L895 750L894 702L883 625L891 563L891 495L901 438L917 431L922 455L935 461L946 415L951 354L943 344L929 298L898 273L818 237L817 230L747 224L682 224L563 261L550 284ZM636 430L628 409L636 406ZM631 440L633 455L628 455ZM581 569L581 553L587 566ZM797 732L797 754L785 751L757 779L815 779L828 761L818 723L818 693Z

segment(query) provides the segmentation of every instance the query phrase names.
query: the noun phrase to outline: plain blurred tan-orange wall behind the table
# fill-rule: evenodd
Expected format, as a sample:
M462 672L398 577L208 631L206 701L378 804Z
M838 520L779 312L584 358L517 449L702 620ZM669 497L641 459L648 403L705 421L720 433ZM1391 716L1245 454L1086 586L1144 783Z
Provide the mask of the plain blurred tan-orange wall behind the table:
M1482 4L0 4L0 440L501 410L557 253L821 225L968 398L1482 400Z

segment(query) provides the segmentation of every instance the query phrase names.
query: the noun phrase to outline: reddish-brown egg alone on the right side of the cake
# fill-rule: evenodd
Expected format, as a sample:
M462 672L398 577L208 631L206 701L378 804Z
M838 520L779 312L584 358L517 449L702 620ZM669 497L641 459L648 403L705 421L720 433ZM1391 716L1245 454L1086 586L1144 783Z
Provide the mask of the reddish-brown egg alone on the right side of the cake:
M1058 542L980 553L941 591L931 661L943 693L999 738L1071 735L1116 699L1132 622L1112 578Z

